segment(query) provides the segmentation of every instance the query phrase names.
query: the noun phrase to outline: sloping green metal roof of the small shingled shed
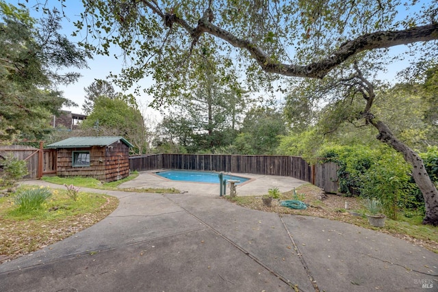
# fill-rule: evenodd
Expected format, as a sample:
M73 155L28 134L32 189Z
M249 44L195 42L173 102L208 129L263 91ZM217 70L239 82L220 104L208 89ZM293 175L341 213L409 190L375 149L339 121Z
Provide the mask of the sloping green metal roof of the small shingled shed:
M124 137L70 137L60 142L55 142L47 145L47 148L76 148L76 147L91 147L91 146L109 146L114 142L121 141L128 147L133 147Z

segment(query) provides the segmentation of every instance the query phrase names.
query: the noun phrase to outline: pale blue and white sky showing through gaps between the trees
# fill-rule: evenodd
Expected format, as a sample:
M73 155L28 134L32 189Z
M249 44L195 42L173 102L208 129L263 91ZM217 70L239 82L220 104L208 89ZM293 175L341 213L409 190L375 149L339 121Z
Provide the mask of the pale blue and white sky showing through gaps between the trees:
M60 1L58 0L6 0L8 3L12 3L13 5L18 5L18 3L23 3L26 5L27 8L30 8L30 14L34 18L41 18L43 16L42 10L40 12L36 12L36 10L31 8L31 5L34 3L47 3L47 8L53 8L56 7L58 9L61 8ZM421 2L421 1L420 1ZM74 5L73 3L77 3ZM62 34L65 34L68 36L68 38L72 42L79 42L83 39L83 36L80 34L77 37L71 36L72 32L75 31L75 27L73 23L80 19L80 12L83 10L82 3L80 0L68 0L66 1L67 7L64 10L64 13L66 14L66 18L64 18L64 21L62 22ZM403 14L403 13L402 13ZM405 48L403 46L398 46L391 48L391 52L398 53L400 51L403 51ZM396 78L396 72L400 70L400 68L406 67L408 63L404 64L392 64L388 67L387 72L381 72L378 75L378 79L386 80L389 82L394 82ZM107 79L107 75L110 74L110 72L118 73L120 72L121 68L123 68L123 61L120 59L115 59L114 57L108 57L108 56L101 56L96 55L94 59L88 60L88 67L84 69L76 69L76 68L70 68L70 70L74 70L75 72L80 72L82 77L77 81L77 83L74 83L72 85L68 86L59 86L59 89L64 92L64 97L70 99L71 101L74 101L79 105L79 107L73 107L73 108L65 108L69 111L73 111L75 114L82 114L81 105L83 104L83 101L85 100L86 92L84 91L84 88L88 87L94 79ZM153 84L153 81L151 78L146 78L140 83L142 85L142 88L149 88ZM121 92L120 88L117 88L114 86L116 91ZM124 92L124 93L132 93L132 92ZM259 95L259 94L257 94ZM140 105L140 109L142 109L142 114L144 116L151 116L152 118L159 118L159 112L155 111L151 108L147 108L146 106L152 101L151 96L146 96L146 94L142 96L136 96L137 101ZM284 101L283 96L279 96L280 101Z

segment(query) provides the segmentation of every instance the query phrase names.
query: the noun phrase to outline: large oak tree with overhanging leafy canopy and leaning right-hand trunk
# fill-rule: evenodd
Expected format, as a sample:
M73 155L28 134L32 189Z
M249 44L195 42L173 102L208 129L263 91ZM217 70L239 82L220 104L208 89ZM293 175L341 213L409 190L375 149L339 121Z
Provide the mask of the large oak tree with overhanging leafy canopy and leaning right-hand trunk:
M272 81L284 77L342 75L358 59L383 68L389 59L401 57L389 56L388 48L402 44L422 50L422 57L436 57L438 51L436 1L83 0L83 4L83 21L77 27L100 42L84 46L107 55L112 45L123 49L128 66L115 77L120 85L131 86L152 75L155 84L149 93L154 94L155 105L188 90L181 72L194 66L193 55L202 51L198 48L214 47L227 62L244 69L242 81L250 90L274 90L273 84L283 90L281 83ZM407 10L409 14L402 13ZM415 181L422 185L426 201L424 223L438 224L438 191L421 159L398 147L381 121L366 118L378 129L379 140L403 152L413 168L422 169Z

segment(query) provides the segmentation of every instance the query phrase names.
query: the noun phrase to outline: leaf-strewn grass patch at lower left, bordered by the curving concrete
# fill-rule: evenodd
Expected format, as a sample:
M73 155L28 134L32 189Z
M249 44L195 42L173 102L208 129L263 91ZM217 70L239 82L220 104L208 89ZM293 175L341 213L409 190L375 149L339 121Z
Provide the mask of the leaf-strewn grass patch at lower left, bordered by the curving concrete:
M36 186L23 186L18 190ZM38 187L36 187L38 188ZM118 206L118 199L81 191L76 201L66 190L52 189L42 209L17 212L13 197L0 198L0 255L8 259L34 252L60 241L107 217Z

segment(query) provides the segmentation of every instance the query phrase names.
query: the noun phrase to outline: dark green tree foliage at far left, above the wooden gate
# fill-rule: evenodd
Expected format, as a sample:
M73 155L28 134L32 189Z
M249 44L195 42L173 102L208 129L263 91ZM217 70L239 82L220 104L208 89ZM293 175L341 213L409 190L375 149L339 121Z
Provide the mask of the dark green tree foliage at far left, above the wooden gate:
M48 118L72 102L55 89L79 74L60 68L86 66L83 51L58 33L60 15L47 10L37 21L23 8L0 1L0 139L40 138Z

